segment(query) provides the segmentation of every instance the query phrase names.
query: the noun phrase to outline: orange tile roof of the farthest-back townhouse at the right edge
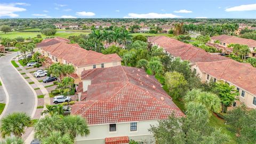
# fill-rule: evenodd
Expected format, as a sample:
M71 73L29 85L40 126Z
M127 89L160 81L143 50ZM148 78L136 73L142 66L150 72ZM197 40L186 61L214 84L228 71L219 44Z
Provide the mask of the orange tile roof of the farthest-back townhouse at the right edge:
M219 35L211 37L213 40L219 40L224 43L233 43L233 44L243 44L248 45L249 47L256 47L256 41L253 39L241 38L236 36L229 35Z

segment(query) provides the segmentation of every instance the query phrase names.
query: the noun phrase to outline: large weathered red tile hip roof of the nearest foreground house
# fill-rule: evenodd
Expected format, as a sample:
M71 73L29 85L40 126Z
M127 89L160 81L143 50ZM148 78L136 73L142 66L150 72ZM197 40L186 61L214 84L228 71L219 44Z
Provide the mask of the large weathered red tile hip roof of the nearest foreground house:
M91 85L85 101L76 103L71 113L82 115L89 124L167 119L172 113L184 116L155 77L142 69L115 66L83 74L82 79L91 78Z

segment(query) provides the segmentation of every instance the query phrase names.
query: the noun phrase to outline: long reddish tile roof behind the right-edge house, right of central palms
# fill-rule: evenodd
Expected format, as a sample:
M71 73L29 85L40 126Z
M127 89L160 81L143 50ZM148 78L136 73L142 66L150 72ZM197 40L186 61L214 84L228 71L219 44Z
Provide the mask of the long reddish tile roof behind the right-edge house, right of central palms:
M148 41L153 45L163 47L163 49L173 55L173 57L180 57L182 60L189 60L192 63L229 59L221 55L207 53L198 47L166 36L149 37Z

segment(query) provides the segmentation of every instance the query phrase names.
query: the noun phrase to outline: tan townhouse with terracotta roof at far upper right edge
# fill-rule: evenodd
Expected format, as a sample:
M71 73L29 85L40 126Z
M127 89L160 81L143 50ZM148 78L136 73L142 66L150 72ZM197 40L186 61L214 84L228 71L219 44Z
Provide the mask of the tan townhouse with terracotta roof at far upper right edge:
M215 41L220 41L220 43L214 43ZM232 47L228 47L229 44L242 44L249 46L251 53L249 57L256 57L256 41L253 39L241 38L229 35L220 35L211 37L211 41L206 43L206 45L216 47L217 50L222 53L231 54L233 52Z

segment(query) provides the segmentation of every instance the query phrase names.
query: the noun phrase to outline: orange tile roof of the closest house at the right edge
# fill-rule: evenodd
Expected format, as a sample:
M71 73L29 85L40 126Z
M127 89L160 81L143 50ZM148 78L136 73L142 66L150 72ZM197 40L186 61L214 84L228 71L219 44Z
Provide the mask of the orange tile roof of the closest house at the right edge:
M256 68L235 60L196 62L202 73L223 79L241 89L256 95Z

